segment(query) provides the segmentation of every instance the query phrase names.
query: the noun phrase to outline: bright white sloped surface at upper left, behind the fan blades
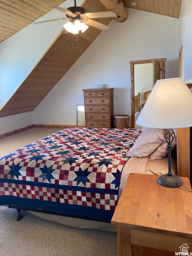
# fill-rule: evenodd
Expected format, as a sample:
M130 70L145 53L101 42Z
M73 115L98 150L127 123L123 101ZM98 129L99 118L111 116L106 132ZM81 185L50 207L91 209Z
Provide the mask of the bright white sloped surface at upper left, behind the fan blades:
M79 0L78 4L82 4ZM68 0L62 7L73 6ZM65 13L52 10L37 21L65 18ZM0 44L0 108L18 89L67 21L30 24Z

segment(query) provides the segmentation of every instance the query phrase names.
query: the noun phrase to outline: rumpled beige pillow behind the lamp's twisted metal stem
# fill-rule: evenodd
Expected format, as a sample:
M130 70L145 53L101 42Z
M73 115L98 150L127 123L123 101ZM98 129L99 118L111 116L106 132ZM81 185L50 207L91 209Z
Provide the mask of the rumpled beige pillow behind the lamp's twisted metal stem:
M173 150L176 147L176 143L177 143L177 139L176 139L176 135L177 135L177 130L174 129L173 130L175 133L175 138L173 139L173 142L171 143L172 148L171 150ZM167 148L167 142L164 139L164 142L149 156L150 160L160 160L165 158L168 155L168 148Z

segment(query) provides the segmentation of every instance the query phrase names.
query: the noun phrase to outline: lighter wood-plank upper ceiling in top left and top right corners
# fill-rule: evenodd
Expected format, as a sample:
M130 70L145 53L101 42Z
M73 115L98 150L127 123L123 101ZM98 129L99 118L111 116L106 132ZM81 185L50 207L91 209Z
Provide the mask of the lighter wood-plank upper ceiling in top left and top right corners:
M65 1L1 0L0 43ZM182 0L122 0L122 2L125 7L179 18ZM131 2L135 2L136 5L131 5Z

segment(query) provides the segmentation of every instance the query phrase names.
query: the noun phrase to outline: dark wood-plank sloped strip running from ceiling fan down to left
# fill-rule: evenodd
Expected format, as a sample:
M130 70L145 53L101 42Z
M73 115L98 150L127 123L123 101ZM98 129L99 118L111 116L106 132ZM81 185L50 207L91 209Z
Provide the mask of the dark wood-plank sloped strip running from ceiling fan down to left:
M83 7L86 12L106 11L99 0L87 0ZM110 21L111 18L100 19L106 25ZM0 117L33 111L100 33L101 30L89 27L83 34L79 33L78 43L76 36L61 34L6 102Z

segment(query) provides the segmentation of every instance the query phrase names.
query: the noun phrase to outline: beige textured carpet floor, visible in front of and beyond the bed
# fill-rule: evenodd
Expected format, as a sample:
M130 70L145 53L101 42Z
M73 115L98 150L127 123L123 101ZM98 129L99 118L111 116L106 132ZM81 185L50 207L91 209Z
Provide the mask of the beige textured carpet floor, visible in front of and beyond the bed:
M59 129L32 128L0 140L0 157ZM117 256L116 233L77 229L0 206L0 256Z

